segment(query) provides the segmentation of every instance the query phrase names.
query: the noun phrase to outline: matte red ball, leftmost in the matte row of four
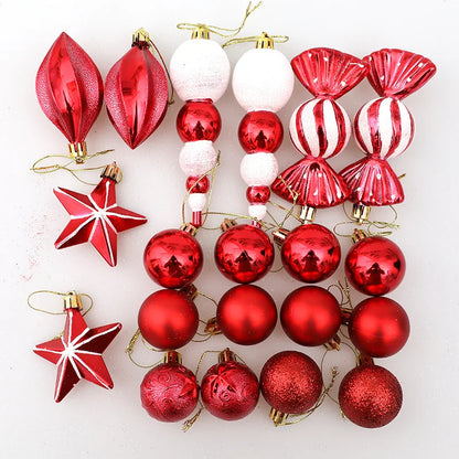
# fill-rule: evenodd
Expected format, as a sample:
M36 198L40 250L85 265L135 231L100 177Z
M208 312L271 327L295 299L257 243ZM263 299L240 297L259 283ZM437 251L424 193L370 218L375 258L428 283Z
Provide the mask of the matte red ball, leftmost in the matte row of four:
M142 337L161 350L179 349L198 331L199 314L194 302L183 292L164 289L151 293L139 310Z

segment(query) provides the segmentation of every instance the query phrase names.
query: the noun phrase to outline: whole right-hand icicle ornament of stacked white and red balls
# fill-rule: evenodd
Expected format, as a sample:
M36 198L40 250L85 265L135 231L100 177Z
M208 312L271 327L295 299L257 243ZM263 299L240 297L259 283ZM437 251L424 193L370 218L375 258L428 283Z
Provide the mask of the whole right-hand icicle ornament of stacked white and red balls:
M265 32L234 67L233 93L247 110L238 130L247 153L241 162L241 175L248 186L248 214L255 225L266 215L269 186L278 173L274 152L282 142L284 128L276 111L289 100L293 83L287 58L274 49L274 40Z

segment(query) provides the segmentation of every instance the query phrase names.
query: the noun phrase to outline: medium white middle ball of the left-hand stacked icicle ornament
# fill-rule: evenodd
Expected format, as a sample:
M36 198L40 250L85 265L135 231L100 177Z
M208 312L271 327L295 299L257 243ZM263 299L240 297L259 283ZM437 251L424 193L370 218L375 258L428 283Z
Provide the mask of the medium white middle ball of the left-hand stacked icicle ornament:
M188 177L201 177L216 164L216 151L210 140L196 140L183 145L179 163Z

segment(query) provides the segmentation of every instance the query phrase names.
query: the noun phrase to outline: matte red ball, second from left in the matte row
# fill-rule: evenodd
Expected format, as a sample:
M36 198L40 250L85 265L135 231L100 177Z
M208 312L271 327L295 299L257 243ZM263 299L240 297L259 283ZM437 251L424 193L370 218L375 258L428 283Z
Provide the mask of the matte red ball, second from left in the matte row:
M260 287L236 286L220 300L216 321L230 341L244 345L257 344L266 340L276 327L276 303Z

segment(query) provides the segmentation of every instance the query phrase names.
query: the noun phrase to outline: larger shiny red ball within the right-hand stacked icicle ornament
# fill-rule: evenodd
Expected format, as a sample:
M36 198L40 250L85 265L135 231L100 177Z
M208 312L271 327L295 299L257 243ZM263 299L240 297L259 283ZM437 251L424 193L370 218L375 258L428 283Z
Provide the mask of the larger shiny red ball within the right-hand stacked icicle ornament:
M282 142L284 127L273 111L249 111L242 119L237 134L247 153L274 153Z

